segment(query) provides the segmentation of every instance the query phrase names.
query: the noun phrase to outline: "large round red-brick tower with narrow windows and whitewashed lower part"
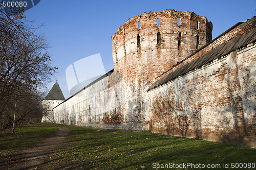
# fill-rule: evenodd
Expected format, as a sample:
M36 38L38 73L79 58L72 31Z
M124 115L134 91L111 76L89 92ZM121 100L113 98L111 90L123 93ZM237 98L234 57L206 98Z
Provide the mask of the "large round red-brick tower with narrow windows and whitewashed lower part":
M194 12L164 10L128 19L112 35L114 72L123 75L123 123L148 124L146 89L155 78L211 41L212 23Z

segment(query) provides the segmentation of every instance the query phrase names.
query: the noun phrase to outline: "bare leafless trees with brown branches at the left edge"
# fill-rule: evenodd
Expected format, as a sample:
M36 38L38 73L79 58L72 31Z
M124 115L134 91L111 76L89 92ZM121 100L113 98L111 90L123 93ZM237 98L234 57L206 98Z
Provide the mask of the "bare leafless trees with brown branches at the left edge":
M28 23L23 12L8 15L0 7L0 129L13 121L14 99L18 99L17 123L39 111L38 87L57 67L51 67L47 41Z

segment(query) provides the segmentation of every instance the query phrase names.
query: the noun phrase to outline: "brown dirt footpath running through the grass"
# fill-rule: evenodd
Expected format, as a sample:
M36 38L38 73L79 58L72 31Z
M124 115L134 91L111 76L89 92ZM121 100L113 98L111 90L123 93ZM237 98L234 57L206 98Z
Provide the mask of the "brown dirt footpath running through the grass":
M40 169L48 162L49 156L58 146L65 142L69 130L58 127L59 130L43 139L35 147L1 158L1 169Z

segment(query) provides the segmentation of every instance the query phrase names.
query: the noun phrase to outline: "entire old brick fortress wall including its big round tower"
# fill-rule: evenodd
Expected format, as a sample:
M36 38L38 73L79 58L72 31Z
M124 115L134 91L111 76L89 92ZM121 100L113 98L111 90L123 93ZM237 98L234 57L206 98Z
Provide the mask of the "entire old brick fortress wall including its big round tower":
M211 40L194 12L134 16L112 35L114 70L55 107L54 121L255 147L255 23Z

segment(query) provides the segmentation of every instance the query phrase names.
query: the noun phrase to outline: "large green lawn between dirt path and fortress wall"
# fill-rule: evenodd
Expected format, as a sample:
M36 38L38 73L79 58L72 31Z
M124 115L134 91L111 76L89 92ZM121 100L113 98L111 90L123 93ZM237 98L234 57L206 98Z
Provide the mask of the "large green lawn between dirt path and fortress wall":
M232 162L255 163L256 158L255 149L226 143L150 131L66 127L71 131L70 141L63 143L52 155L47 166L49 169L153 169L153 163L220 164L222 168L223 163L229 163L230 168Z

